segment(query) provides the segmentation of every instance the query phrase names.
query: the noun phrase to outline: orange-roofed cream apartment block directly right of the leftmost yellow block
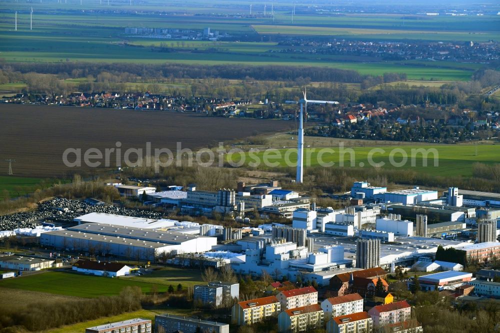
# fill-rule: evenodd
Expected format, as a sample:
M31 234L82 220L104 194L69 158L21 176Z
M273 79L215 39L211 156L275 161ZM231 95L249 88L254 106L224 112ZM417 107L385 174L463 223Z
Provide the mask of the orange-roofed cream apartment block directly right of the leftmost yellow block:
M323 316L319 304L284 310L278 315L278 332L303 332L322 327Z

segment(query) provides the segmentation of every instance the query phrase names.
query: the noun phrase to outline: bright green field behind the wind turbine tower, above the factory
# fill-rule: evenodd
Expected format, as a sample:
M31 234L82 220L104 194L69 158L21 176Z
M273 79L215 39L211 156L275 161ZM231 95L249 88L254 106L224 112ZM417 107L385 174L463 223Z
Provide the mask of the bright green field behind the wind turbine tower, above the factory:
M307 137L305 138L307 144ZM434 164L434 154L429 153L427 156L427 166L424 166L422 153L415 149L432 149L437 154L437 166ZM449 176L464 176L469 177L472 175L472 165L476 162L485 164L500 163L500 145L412 145L412 146L378 146L378 147L352 147L343 148L341 150L338 146L332 146L333 151L328 148L305 148L304 149L304 165L319 166L320 161L324 163L333 162L333 165L327 167L342 166L340 160L343 160L343 166L354 167L372 167L368 155L372 151L371 160L374 163L380 164L381 168L401 169L401 170L414 170L420 173L429 175L449 175ZM352 149L352 150L350 150ZM377 150L373 150L377 149ZM382 149L382 150L380 150ZM435 150L434 150L435 149ZM289 164L284 159L285 152L289 151ZM323 152L321 152L323 151ZM353 152L351 154L350 152ZM431 150L428 150L431 151ZM390 162L390 155L393 154L393 161L399 166L393 166ZM407 160L403 163L403 155ZM296 165L296 150L294 148L288 149L272 149L266 155L263 152L244 153L245 165L249 162L254 162L256 159L260 161L258 168L266 168L262 163L264 156L267 160L273 163L274 167L281 166L294 166ZM254 156L254 157L252 157ZM343 158L342 158L343 156ZM240 154L228 155L227 160L232 160L238 163ZM413 165L412 165L413 161ZM352 164L351 164L352 163ZM272 164L268 164L272 165ZM272 167L272 166L271 166Z

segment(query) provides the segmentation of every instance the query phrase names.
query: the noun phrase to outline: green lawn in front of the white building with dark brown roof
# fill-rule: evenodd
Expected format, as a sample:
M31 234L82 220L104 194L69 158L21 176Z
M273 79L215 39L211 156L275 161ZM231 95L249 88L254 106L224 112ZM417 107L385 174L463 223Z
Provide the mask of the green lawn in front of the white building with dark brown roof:
M152 284L128 278L91 276L63 271L49 271L0 281L0 288L24 289L87 298L117 295L125 286L138 286L143 292L149 292ZM167 288L166 285L158 285L159 292L164 292Z

